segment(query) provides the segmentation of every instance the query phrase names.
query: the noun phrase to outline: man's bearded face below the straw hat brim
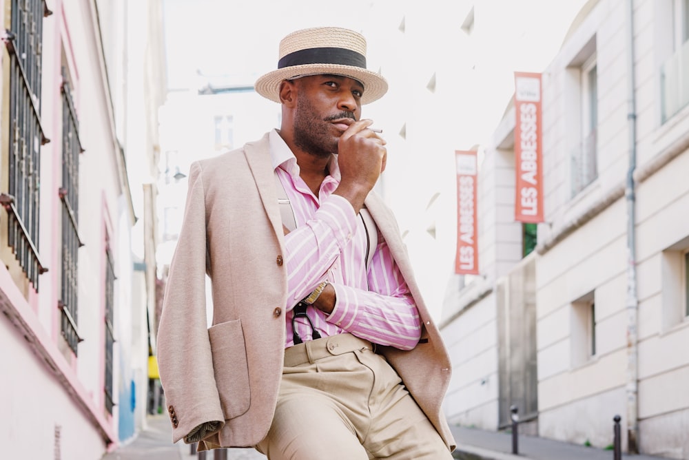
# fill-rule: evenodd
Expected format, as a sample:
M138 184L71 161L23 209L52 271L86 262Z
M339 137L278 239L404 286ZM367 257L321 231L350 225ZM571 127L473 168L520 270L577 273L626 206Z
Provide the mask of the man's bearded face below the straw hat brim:
M338 140L361 115L364 87L347 76L312 75L296 79L294 142L316 156L338 153Z

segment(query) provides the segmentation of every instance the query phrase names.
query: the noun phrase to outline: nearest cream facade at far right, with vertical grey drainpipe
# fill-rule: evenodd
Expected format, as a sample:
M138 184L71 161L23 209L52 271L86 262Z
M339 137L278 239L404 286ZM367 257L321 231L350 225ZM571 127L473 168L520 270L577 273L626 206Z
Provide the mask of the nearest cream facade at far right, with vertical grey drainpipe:
M539 433L689 459L689 2L590 1L544 79ZM633 180L630 180L633 179Z

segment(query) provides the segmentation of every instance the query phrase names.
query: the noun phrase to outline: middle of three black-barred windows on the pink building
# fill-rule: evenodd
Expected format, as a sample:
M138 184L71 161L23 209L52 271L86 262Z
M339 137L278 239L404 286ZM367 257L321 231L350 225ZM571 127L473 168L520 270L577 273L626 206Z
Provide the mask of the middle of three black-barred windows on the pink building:
M62 266L58 306L62 312L62 336L76 355L77 344L81 342L76 318L79 293L76 262L79 260L79 247L83 245L79 237L79 155L83 149L70 83L64 67L62 79L62 186L59 190L62 201Z

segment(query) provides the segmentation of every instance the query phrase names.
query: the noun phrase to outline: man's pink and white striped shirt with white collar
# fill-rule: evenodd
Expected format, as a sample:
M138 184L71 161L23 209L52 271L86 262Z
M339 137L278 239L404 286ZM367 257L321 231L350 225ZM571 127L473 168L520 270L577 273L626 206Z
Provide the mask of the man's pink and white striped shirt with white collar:
M318 196L314 196L299 176L294 154L275 130L270 133L270 154L291 202L297 227L285 236L285 346L294 344L292 309L320 282L328 280L336 291L332 313L323 313L313 306L307 309L322 337L349 332L375 344L402 350L413 348L421 334L415 302L380 233L367 273L363 222L349 201L332 195L340 179L336 156L329 163L330 175L323 180ZM308 322L297 318L295 324L299 336L310 340Z

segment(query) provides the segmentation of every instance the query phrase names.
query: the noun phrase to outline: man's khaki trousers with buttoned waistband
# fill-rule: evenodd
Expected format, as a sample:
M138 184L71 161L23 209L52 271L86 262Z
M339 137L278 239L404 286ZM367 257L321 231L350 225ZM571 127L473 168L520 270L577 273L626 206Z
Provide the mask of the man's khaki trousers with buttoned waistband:
M269 460L451 460L449 449L370 342L351 334L285 351Z

